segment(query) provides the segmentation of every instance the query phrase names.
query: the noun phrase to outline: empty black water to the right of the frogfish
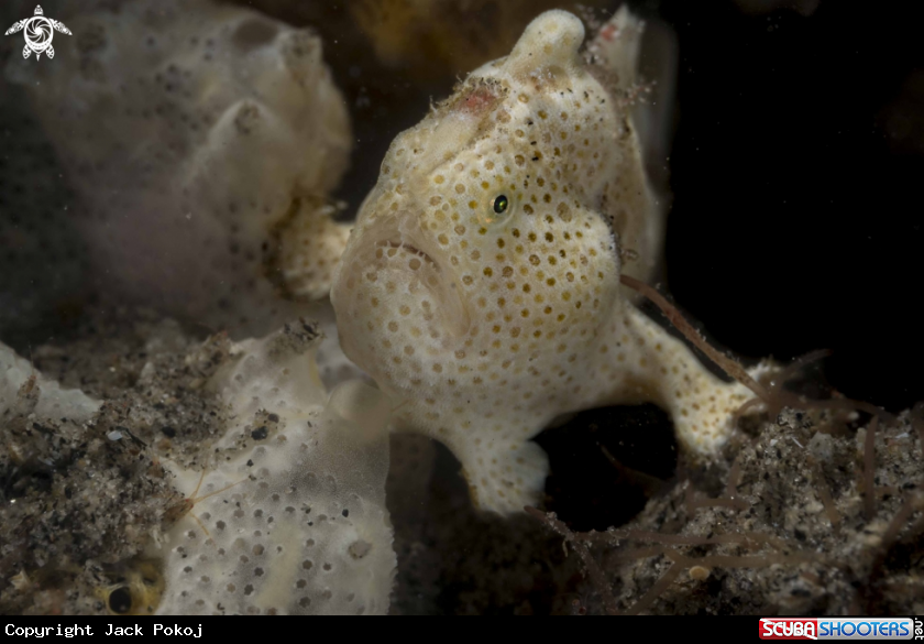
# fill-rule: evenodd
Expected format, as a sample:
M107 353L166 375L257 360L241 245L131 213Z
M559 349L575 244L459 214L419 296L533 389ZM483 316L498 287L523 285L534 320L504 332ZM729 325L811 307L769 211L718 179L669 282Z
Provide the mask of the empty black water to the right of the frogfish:
M822 0L745 15L663 2L680 42L668 280L716 340L900 411L924 397L922 3ZM906 94L906 92L905 92ZM898 113L902 112L902 113ZM919 132L920 132L920 125Z

